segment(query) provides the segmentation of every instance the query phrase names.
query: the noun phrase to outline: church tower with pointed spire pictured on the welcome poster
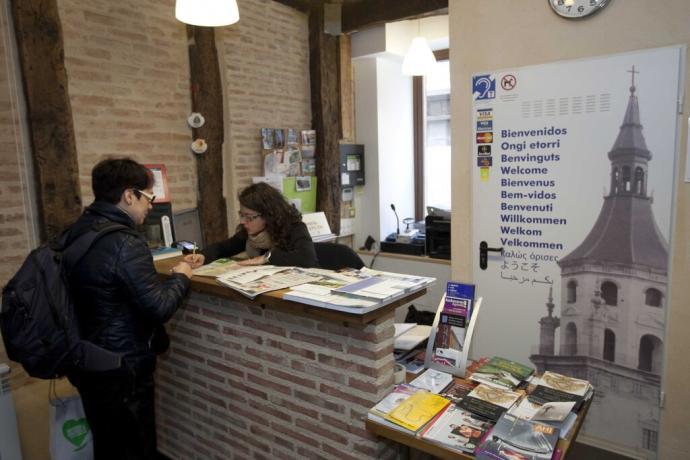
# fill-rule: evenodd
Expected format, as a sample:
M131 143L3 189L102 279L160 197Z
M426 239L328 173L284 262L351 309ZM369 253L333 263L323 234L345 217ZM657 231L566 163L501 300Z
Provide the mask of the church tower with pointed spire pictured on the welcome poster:
M538 372L592 382L583 433L655 458L669 257L648 189L653 155L640 122L638 72L629 72L627 109L608 152L608 194L589 234L558 262L561 317L549 294L530 360Z

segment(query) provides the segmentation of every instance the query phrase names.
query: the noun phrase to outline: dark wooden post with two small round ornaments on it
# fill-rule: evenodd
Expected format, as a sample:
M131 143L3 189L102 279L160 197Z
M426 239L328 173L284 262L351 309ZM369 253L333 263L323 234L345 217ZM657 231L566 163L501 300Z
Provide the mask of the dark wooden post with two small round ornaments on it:
M215 34L211 27L187 26L192 111L206 119L192 130L204 139L206 153L197 155L199 221L206 245L228 237L228 213L223 197L223 88Z

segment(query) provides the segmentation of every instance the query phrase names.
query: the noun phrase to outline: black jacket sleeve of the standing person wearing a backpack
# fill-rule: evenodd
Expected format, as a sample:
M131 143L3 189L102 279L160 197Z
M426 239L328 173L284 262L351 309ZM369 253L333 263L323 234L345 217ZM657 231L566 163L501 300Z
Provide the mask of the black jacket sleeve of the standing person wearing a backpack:
M154 324L168 321L189 291L189 278L178 273L161 281L146 243L136 237L123 239L118 258L118 276L129 291L130 305Z

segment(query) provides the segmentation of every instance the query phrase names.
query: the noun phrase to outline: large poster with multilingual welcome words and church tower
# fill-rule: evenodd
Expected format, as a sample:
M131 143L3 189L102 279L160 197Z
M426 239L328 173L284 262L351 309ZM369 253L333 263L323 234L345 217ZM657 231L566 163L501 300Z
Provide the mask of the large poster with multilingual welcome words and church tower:
M590 380L582 438L645 458L657 448L681 56L487 71L471 88L473 247L503 249L474 269L472 356Z

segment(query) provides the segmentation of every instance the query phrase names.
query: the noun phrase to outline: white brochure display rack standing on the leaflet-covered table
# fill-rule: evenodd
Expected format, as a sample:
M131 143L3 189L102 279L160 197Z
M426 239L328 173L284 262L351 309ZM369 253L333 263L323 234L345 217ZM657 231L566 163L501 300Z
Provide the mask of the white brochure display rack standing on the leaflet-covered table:
M465 369L467 368L467 357L469 356L470 346L472 345L472 335L477 324L479 311L482 304L482 298L479 297L474 300L469 313L470 321L464 328L449 326L445 331L439 331L442 325L442 317L447 313L444 312L446 304L446 295L443 294L441 301L436 309L436 316L431 327L431 334L427 342L426 355L424 358L424 366L427 369L435 369L438 371L448 372L457 377L465 376ZM441 323L441 324L439 324ZM457 337L457 333L464 333L464 336ZM439 347L439 333L448 333L456 335L453 340L450 340L450 347ZM447 341L446 341L447 342Z

